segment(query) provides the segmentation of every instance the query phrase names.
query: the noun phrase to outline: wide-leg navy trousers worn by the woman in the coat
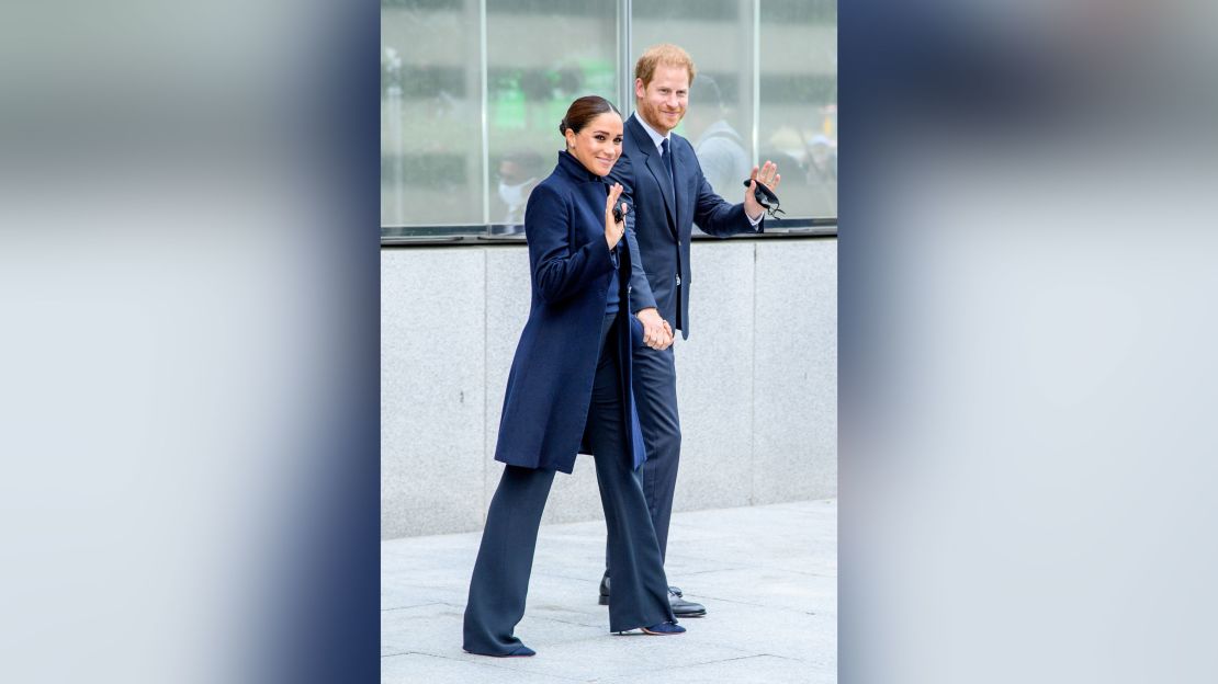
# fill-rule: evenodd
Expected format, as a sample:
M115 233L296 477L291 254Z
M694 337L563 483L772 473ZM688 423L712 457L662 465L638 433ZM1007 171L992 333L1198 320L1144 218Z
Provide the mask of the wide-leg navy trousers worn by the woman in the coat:
M607 315L600 329L585 436L596 459L614 567L609 630L626 632L675 618L650 512L626 450L630 432L621 403L616 335L610 335L615 324L616 316ZM464 623L469 652L498 656L520 645L513 632L525 613L537 528L553 481L552 470L503 469L469 583Z

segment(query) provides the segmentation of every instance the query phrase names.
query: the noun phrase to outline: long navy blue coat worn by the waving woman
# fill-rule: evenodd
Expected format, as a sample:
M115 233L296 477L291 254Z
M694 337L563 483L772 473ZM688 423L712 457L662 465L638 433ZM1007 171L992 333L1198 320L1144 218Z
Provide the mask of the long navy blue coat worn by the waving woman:
M583 430L614 269L604 236L608 197L609 184L568 152L559 152L554 172L529 196L525 236L532 304L508 375L497 461L570 473L576 454L588 453ZM626 305L632 242L633 236L619 242L618 315L626 325L616 327L616 348L631 428L622 436L625 458L637 469L646 453L630 391L631 349L642 343L642 326Z

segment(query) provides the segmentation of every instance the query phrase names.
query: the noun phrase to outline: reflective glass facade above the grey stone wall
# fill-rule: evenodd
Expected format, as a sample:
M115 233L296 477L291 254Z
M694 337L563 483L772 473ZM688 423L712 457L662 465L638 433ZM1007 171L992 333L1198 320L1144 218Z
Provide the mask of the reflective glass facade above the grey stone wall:
M676 131L717 192L773 159L784 219L836 219L836 0L382 0L382 236L519 232L566 107L628 114L655 43L697 65Z

